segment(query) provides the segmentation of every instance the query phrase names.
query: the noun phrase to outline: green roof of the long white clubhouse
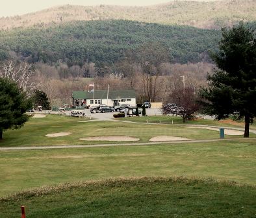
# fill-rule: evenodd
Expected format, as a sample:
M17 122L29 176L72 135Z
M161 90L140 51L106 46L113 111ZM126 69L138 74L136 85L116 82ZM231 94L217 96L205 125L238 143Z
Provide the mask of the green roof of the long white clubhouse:
M107 99L107 90L88 91L72 91L73 99ZM134 90L111 90L109 91L109 99L135 98Z

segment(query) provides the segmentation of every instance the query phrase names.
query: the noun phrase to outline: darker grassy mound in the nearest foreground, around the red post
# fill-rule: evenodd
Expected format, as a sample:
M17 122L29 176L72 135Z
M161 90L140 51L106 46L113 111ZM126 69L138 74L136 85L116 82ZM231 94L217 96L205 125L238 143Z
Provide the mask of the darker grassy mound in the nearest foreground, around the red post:
M188 178L64 184L0 199L1 217L255 217L256 188Z

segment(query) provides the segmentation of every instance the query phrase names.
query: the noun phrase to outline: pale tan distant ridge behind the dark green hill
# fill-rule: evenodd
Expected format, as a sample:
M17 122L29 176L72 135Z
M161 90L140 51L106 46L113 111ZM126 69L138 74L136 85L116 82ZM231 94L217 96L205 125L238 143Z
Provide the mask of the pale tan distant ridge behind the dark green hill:
M51 25L77 20L128 19L167 25L220 29L238 21L256 21L255 0L170 1L154 6L58 6L0 19L0 29Z

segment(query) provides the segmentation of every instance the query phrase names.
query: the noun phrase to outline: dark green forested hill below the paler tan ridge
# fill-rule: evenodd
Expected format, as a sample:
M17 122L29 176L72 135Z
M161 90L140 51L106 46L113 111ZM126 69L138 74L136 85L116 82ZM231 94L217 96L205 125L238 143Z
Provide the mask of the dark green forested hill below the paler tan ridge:
M219 30L136 21L74 21L50 27L0 31L0 57L16 56L27 62L113 63L127 50L146 42L159 42L170 52L171 62L209 60L220 40Z

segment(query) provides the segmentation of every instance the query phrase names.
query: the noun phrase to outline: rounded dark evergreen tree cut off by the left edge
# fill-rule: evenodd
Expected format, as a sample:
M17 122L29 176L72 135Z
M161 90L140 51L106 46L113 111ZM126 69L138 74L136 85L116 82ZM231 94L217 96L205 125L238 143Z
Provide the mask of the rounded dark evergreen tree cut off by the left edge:
M3 130L20 128L28 119L25 112L31 108L31 101L18 85L6 78L0 78L0 139Z

